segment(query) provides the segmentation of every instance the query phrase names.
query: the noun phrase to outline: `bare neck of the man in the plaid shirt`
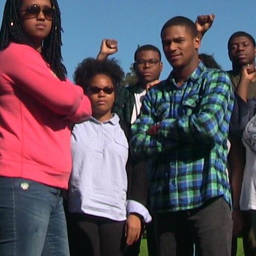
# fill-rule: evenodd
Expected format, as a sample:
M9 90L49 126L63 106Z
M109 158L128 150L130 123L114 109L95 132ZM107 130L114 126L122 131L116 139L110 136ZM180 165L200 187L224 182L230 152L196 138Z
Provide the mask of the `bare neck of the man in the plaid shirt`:
M182 86L182 84L187 80L187 78L198 67L198 64L199 64L199 57L197 55L194 59L191 60L189 65L181 68L174 68L173 73L174 73L175 81L178 86Z

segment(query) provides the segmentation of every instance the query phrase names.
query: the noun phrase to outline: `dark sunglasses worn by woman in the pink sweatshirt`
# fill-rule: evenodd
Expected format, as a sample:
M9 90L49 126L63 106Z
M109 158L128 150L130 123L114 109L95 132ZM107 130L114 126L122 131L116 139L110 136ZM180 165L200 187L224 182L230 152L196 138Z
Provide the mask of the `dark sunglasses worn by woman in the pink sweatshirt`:
M48 20L52 20L53 18L53 9L51 7L40 7L38 5L31 5L25 10L19 10L21 12L25 12L23 15L24 19L30 19L30 18L36 18L39 13L42 11L42 13L45 15L45 18Z

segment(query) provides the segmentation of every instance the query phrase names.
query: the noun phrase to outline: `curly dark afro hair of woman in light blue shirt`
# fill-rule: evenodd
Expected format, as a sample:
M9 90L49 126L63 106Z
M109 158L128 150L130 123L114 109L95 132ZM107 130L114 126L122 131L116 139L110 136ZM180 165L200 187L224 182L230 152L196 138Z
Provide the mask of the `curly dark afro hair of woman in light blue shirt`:
M90 80L98 74L110 77L114 87L119 86L124 76L123 70L114 58L104 60L86 58L78 64L74 73L74 81L86 92L89 88Z

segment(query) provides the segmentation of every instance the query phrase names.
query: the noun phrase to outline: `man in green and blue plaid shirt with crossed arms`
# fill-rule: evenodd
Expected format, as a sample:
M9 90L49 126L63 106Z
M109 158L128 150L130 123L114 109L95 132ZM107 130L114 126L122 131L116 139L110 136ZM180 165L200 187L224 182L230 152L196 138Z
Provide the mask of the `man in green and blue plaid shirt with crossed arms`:
M173 71L147 93L132 125L135 155L155 158L150 194L159 253L193 255L195 243L199 255L230 255L230 79L199 61L191 20L168 20L161 38Z

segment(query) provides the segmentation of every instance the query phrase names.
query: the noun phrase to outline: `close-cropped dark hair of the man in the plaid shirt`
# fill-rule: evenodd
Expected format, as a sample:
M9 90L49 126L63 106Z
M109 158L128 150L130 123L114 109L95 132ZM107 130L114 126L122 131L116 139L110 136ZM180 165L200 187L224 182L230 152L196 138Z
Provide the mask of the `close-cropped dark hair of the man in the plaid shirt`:
M163 35L164 30L166 28L172 27L172 26L184 26L191 31L191 34L194 37L196 37L198 35L196 25L191 19L183 17L183 16L176 16L176 17L173 17L173 18L167 20L167 22L163 25L163 28L161 30L161 37Z

